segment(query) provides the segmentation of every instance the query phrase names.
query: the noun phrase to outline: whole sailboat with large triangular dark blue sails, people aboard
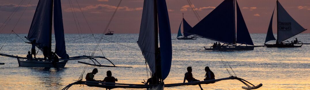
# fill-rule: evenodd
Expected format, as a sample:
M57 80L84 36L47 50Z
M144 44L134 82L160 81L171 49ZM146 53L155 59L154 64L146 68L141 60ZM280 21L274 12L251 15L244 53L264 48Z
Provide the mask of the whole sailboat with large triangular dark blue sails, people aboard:
M237 7L237 33L235 7ZM254 46L248 46L254 44L235 0L222 2L186 33L224 43L221 46L205 47L205 50L254 50ZM246 46L241 46L243 44Z

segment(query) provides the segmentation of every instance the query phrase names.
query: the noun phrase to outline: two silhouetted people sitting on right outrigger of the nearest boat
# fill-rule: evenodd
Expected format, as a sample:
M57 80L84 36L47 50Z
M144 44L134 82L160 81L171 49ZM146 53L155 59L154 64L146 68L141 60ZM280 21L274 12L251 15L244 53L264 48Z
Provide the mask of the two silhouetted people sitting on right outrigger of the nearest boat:
M193 76L193 73L192 73L193 69L192 67L187 67L187 72L185 73L184 75L184 80L183 80L183 83L185 83L185 80L187 80L187 82L196 82L196 81L200 81L200 80L197 80L194 78ZM205 71L206 71L206 75L205 75L205 79L203 80L215 80L215 75L214 73L210 70L209 67L206 67L205 68ZM201 85L198 84L200 89L203 90L201 88Z

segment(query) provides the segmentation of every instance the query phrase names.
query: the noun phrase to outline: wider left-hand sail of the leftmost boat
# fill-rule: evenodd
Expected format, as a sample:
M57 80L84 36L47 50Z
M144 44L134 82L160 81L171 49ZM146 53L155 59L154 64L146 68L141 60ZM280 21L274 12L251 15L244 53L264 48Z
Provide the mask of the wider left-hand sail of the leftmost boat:
M41 50L47 47L51 51L52 12L52 0L39 0L27 38L36 39Z

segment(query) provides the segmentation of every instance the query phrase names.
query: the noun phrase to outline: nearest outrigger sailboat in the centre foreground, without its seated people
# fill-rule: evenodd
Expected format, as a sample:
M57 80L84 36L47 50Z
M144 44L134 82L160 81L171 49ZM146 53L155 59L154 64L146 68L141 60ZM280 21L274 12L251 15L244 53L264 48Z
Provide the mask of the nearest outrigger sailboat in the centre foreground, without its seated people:
M230 5L232 0L225 0L222 4ZM157 7L158 6L158 7ZM158 47L158 31L160 48ZM172 60L172 44L171 44L171 32L169 15L165 0L144 0L142 20L140 26L139 39L137 41L142 55L146 60L153 78L156 78L156 82L159 84L146 85L146 84L120 84L120 83L106 83L106 82L93 82L78 80L72 84L69 84L62 90L69 89L75 84L85 84L92 87L100 88L147 88L148 90L163 90L165 87L176 87L186 85L197 84L210 84L221 80L239 80L246 87L243 89L256 89L263 84L257 86L250 82L237 78L236 76L230 76L228 78L197 81L189 83L176 83L176 84L164 84L164 80L169 75ZM249 85L250 84L250 85Z

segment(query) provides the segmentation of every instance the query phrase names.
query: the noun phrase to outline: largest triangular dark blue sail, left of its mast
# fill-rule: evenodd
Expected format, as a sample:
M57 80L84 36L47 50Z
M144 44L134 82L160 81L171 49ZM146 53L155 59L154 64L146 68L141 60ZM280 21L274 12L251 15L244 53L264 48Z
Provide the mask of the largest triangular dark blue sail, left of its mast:
M233 0L225 0L189 30L188 34L224 43L234 43L234 18Z

